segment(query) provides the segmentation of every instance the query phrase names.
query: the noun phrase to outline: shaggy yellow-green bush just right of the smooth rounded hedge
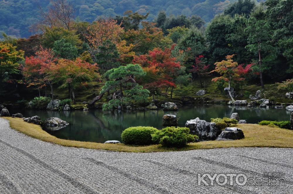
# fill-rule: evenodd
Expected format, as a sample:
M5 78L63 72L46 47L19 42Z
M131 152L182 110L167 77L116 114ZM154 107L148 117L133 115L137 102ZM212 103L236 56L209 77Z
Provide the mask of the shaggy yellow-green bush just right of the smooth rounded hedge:
M186 144L194 142L196 135L189 134L187 127L166 127L152 134L154 143L160 143L165 147L184 147Z

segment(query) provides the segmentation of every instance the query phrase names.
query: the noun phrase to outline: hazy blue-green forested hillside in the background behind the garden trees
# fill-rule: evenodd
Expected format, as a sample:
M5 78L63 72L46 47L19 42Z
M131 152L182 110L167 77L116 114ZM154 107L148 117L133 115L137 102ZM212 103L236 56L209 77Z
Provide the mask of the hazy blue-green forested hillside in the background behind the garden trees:
M156 18L159 11L166 15L199 15L209 22L222 13L235 0L71 0L75 16L81 21L92 22L99 17L123 15L127 10L146 14L148 21ZM0 31L16 37L29 37L30 26L40 19L39 7L47 11L49 0L3 0L0 1Z

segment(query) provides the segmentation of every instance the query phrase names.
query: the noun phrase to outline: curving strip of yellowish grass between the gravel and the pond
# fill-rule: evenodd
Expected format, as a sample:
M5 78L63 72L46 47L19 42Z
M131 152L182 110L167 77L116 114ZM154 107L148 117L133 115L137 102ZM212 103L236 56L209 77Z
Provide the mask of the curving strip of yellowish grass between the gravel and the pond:
M203 141L190 143L185 148L164 148L160 145L151 146L127 146L124 144L103 144L94 142L71 141L59 139L42 130L39 125L24 122L20 118L4 117L10 122L10 126L28 136L38 138L42 141L56 143L62 146L77 148L92 148L100 150L112 150L119 152L166 152L211 148L230 147L272 147L293 148L293 131L277 127L260 126L258 124L239 124L237 127L243 130L245 138L234 141Z

